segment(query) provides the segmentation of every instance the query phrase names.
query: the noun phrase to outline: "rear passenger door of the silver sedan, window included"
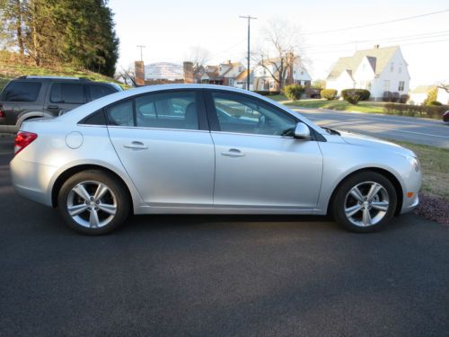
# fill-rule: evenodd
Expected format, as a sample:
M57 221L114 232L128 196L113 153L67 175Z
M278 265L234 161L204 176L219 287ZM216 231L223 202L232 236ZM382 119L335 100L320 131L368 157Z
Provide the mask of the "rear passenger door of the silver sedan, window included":
M110 140L145 203L213 204L214 145L199 91L145 93L105 113Z

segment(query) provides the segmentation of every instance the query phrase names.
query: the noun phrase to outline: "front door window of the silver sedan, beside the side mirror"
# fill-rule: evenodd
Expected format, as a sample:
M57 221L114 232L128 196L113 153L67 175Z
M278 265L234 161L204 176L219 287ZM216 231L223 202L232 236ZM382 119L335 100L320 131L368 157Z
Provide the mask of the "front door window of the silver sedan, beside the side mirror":
M272 136L294 136L295 119L257 99L234 93L212 93L220 130Z

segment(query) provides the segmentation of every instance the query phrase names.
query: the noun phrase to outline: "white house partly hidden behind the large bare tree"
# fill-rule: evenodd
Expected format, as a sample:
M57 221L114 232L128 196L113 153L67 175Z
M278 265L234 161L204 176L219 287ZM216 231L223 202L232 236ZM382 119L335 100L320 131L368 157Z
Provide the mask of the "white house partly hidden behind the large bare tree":
M277 78L277 69L280 67L280 59L270 58L264 61L264 66L259 63L253 69L253 87L255 91L270 91L276 92L279 90L277 81L273 78L273 75ZM267 69L268 68L268 69ZM273 74L273 75L271 75ZM312 83L312 77L309 75L307 69L301 58L295 58L293 67L286 69L285 84L301 84L304 86L310 86Z

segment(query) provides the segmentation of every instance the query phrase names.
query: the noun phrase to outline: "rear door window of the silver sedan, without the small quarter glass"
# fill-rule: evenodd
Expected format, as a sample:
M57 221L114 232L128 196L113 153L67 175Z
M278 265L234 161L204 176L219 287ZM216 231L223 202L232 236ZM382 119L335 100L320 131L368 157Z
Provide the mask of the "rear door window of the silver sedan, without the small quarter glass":
M137 127L198 130L196 96L194 92L169 92L137 97Z

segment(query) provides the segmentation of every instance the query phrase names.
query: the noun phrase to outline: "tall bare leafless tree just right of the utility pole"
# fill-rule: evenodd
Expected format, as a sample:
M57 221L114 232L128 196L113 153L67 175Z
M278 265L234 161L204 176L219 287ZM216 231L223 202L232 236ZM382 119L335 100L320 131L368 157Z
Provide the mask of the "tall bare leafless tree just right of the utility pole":
M288 72L299 58L301 33L298 27L281 19L272 19L260 31L260 46L253 53L253 60L275 80L279 90L286 84Z

